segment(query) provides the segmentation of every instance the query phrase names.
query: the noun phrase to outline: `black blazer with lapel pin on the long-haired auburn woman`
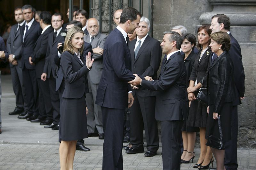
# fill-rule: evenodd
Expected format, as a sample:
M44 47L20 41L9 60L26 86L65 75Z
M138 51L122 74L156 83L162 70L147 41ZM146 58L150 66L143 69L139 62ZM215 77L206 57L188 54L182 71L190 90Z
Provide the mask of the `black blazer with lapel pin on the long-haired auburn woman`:
M199 50L196 55L195 64L194 64L194 67L192 69L192 72L190 74L188 81L193 80L195 82L197 81L197 83L201 82L201 80L203 79L203 77L205 76L205 74L208 70L208 67L211 62L212 51L211 51L211 48L209 47L204 52L201 60L199 61L200 54L201 54L202 50L203 49ZM206 77L204 79L206 79ZM204 81L202 87L205 88L206 86L207 86L207 83L206 83L206 81Z

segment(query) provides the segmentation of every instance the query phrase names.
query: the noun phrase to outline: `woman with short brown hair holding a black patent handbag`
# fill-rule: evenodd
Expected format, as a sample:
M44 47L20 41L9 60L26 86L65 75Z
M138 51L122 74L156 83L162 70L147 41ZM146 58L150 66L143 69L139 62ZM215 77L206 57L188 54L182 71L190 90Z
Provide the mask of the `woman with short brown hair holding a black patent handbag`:
M239 100L234 83L234 66L228 53L230 37L226 32L215 32L210 35L212 52L217 55L208 69L208 120L205 138L209 135L220 138L218 117L220 117L223 143L231 139L231 112L233 102ZM225 150L211 147L217 162L217 170L224 170Z

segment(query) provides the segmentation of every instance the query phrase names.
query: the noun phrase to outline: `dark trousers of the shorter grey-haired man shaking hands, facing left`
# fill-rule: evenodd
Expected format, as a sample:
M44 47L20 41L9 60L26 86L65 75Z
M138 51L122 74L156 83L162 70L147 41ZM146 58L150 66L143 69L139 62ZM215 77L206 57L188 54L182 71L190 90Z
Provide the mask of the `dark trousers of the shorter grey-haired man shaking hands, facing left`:
M183 120L161 121L163 170L180 169L180 135Z

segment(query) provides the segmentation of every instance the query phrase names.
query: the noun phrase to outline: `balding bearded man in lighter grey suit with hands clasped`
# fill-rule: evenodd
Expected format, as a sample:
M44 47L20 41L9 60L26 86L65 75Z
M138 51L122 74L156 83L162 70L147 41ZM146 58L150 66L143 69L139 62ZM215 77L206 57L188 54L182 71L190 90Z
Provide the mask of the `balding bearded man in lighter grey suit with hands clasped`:
M91 134L99 133L99 139L104 139L104 132L102 127L102 114L99 105L95 104L97 89L100 83L100 76L102 74L103 62L103 48L107 39L106 35L99 33L99 21L96 18L90 18L86 22L88 34L84 36L84 41L92 45L93 50L93 67L87 73L89 84L89 93L86 94L86 104L88 107L87 114L87 129L88 137Z

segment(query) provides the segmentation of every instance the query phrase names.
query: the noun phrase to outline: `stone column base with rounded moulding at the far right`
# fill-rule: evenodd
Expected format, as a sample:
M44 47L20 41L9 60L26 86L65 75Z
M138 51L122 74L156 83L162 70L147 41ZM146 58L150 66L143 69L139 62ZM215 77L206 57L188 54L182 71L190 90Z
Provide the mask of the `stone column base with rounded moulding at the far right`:
M255 148L255 97L256 97L256 1L208 0L211 12L201 14L200 24L210 24L215 14L230 18L230 32L241 46L245 73L245 99L238 107L238 146ZM235 68L236 69L236 68Z

